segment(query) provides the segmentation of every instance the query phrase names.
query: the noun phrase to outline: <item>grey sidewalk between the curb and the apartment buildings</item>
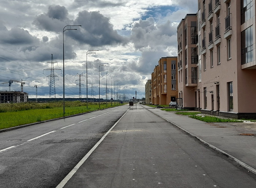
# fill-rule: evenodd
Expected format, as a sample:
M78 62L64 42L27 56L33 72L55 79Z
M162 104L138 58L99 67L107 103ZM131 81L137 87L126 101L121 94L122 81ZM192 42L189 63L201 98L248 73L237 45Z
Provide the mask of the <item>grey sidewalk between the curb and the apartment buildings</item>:
M206 123L187 115L177 115L175 111L142 106L256 174L256 122Z

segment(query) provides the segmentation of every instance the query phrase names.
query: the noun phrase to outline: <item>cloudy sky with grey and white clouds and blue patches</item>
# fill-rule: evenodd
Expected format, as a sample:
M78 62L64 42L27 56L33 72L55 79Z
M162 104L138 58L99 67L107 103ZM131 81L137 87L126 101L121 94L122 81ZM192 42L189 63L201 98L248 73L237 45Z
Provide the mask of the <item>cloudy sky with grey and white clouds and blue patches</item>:
M109 90L112 84L113 93L118 83L127 97L135 97L135 91L137 98L144 97L158 60L177 56L181 19L197 12L197 0L0 0L0 4L0 90L9 90L10 80L22 80L29 98L36 97L35 85L38 98L49 98L52 65L56 98L63 98L67 25L81 27L64 31L65 98L79 97L77 75L83 75L81 95L86 98L86 57L89 98L99 97L99 78L101 98L105 99L106 82ZM95 53L86 55L87 51ZM99 67L101 63L108 64ZM20 91L20 83L14 81L11 90Z

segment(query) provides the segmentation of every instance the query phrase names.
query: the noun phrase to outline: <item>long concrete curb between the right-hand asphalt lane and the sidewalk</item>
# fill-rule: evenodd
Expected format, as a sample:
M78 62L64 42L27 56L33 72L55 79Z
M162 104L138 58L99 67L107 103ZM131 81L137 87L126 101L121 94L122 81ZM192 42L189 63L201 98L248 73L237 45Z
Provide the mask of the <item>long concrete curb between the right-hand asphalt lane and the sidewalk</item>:
M143 107L143 108L145 108L145 107ZM147 108L145 108L145 109L147 109ZM149 110L149 109L147 109L147 110L148 110L148 111L151 111L151 110ZM254 174L256 175L256 169L252 168L252 167L249 166L248 164L245 164L244 162L238 160L237 158L231 156L230 154L224 152L223 150L221 150L221 149L215 147L214 145L212 145L212 144L210 144L210 143L204 141L203 139L201 139L201 138L195 136L195 135L192 134L191 132L188 132L187 130L181 128L180 126L174 124L173 122L171 122L171 121L165 119L165 118L162 117L161 115L158 115L157 113L155 113L155 112L153 112L153 111L151 111L151 112L152 112L153 114L155 114L155 115L161 117L161 118L164 119L165 121L169 122L169 123L172 124L173 126L176 126L177 128L183 130L185 133L187 133L187 134L189 134L190 136L196 138L197 140L199 140L199 141L202 142L203 144L205 144L205 145L209 146L210 148L212 148L212 149L214 149L214 150L216 150L216 151L222 153L222 154L225 155L226 157L231 158L232 160L236 161L237 164L241 165L242 167L246 168L248 171L250 171L250 172L252 172L252 173L254 173Z

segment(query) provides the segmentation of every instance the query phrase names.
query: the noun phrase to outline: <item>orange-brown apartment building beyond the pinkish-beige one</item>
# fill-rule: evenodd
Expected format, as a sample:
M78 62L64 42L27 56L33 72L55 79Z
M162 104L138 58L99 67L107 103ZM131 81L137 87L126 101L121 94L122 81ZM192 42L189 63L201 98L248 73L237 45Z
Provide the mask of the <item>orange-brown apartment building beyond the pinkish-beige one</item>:
M151 74L151 102L154 105L168 105L176 101L177 93L177 57L159 59Z

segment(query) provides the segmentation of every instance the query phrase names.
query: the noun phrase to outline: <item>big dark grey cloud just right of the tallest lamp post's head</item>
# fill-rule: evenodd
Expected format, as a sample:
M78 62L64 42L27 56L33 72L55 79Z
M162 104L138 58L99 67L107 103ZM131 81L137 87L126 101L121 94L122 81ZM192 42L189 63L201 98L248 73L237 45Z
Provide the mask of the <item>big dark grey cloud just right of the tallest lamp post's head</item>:
M79 12L75 23L82 25L81 30L72 34L74 39L78 40L80 44L87 43L91 46L102 46L125 42L125 39L113 29L109 18L103 16L98 11Z

